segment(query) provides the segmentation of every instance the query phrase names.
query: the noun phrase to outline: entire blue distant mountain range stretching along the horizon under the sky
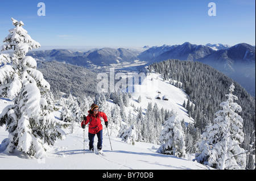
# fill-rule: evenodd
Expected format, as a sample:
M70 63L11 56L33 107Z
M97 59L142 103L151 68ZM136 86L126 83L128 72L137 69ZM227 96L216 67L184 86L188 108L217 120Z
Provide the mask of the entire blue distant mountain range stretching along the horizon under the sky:
M241 43L230 47L222 44L195 45L186 42L182 45L143 47L143 52L125 48L101 48L88 52L72 52L65 49L34 51L27 53L41 61L59 61L66 64L84 66L112 66L124 62L145 61L147 65L167 59L199 61L233 78L255 96L255 47Z

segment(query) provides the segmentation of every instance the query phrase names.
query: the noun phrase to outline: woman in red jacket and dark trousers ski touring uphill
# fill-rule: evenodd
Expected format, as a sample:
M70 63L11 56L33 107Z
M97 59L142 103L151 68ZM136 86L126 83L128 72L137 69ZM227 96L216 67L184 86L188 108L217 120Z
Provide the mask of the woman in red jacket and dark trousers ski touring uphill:
M98 137L98 144L97 149L100 151L102 149L102 124L101 124L101 117L105 121L106 127L108 127L108 117L104 112L98 111L98 105L92 104L90 107L90 110L88 111L89 115L84 116L84 120L82 120L81 127L85 128L85 125L89 123L89 150L94 151L93 148L93 142L94 142L94 136L97 134Z

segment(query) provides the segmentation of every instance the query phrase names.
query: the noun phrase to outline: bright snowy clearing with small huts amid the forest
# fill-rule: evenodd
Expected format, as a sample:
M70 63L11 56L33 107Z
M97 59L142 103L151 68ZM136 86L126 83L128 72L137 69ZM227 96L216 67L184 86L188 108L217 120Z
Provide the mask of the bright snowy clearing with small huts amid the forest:
M141 85L131 85L128 86L122 92L133 91L133 99L130 99L130 104L134 106L142 107L142 110L146 112L148 103L152 103L152 107L156 103L158 108L164 108L170 111L174 111L180 120L185 121L185 123L193 123L193 118L188 116L187 110L182 106L185 102L187 103L187 94L171 85L168 81L163 81L163 77L160 74L148 73ZM168 97L168 100L163 100L163 97ZM138 103L138 98L141 96L141 103ZM160 96L160 99L156 97ZM129 111L127 110L127 113Z

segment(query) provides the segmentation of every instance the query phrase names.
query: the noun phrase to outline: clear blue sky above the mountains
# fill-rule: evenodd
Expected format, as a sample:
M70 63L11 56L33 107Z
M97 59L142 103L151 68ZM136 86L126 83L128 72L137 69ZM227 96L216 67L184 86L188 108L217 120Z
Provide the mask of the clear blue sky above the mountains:
M39 2L46 16L38 16ZM1 42L11 17L42 46L255 45L255 0L0 0Z

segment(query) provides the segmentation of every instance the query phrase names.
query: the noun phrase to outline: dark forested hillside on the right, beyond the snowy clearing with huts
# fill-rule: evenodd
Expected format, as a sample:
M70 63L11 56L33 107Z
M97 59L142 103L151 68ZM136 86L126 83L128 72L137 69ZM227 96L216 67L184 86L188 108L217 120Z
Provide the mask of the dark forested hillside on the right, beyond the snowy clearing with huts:
M255 139L255 98L250 96L242 86L231 78L212 67L193 61L166 60L150 65L150 71L163 75L164 79L177 82L189 95L192 106L188 106L189 114L195 119L195 127L203 132L205 126L212 123L214 114L220 109L220 103L225 100L229 86L234 83L234 95L237 103L242 107L243 132L245 140L243 147L247 149ZM187 103L186 103L187 104Z

